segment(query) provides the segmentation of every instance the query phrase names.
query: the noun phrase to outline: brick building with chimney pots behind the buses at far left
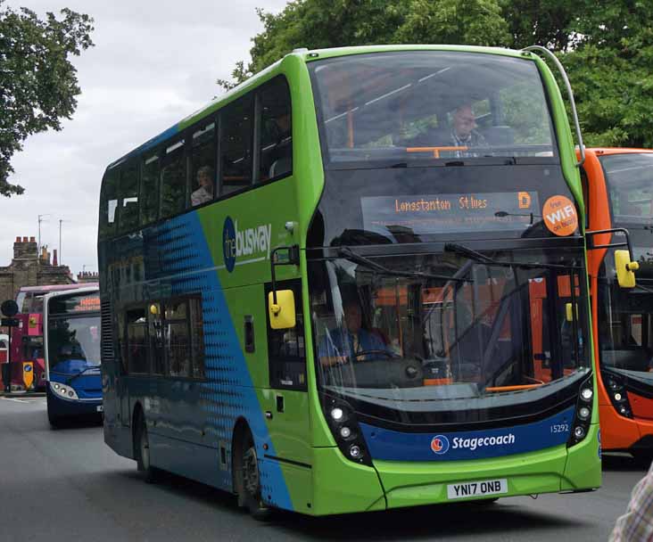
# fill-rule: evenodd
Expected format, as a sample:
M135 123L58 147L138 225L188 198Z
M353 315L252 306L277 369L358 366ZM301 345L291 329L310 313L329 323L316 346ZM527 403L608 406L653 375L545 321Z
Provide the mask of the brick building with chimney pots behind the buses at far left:
M34 237L16 237L13 243L12 263L0 267L0 302L15 300L21 286L41 286L44 284L70 284L75 281L68 266L57 262L57 251L50 261L50 252L42 247L38 254Z

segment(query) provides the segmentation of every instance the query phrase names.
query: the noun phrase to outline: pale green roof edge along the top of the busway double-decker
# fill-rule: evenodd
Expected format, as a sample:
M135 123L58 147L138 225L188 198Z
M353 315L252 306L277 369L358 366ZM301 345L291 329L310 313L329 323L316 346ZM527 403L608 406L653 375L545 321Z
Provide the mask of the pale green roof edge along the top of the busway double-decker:
M524 58L524 53L514 49L506 49L503 47L484 47L477 45L360 45L352 47L333 47L330 49L294 49L293 52L287 53L282 59L269 65L265 70L253 75L251 78L243 81L240 85L228 90L225 94L220 94L207 103L199 110L194 111L186 118L181 119L173 126L163 130L158 136L148 139L144 144L138 145L135 149L129 151L127 154L121 156L118 160L112 161L107 170L119 166L121 163L137 156L143 152L153 149L162 142L168 140L170 137L175 136L182 132L186 127L193 124L195 121L202 119L204 116L211 114L211 112L218 111L223 105L232 102L240 94L244 94L250 87L257 86L260 79L267 79L268 75L277 71L287 57L296 57L301 59L302 62L314 62L325 58L333 58L335 56L348 56L353 54L364 53L390 53L393 51L449 51L460 53L486 53L486 54L500 54L503 56L511 56L515 58Z

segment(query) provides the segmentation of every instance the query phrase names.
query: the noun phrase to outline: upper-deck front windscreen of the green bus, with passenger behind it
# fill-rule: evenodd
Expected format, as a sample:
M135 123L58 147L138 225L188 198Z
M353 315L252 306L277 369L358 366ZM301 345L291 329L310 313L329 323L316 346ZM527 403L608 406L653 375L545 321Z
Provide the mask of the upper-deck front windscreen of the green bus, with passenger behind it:
M484 53L368 53L310 62L327 168L550 161L534 62ZM518 160L517 160L518 159Z

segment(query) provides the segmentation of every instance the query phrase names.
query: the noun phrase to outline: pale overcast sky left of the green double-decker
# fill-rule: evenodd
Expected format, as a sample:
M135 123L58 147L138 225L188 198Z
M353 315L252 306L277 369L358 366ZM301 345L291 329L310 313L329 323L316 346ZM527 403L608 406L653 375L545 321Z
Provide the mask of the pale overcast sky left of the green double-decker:
M248 60L250 38L262 26L255 8L278 12L285 0L8 0L43 16L69 7L95 19L95 47L72 57L79 95L61 132L31 136L14 155L12 182L25 193L0 196L0 266L9 265L17 235L37 236L59 248L73 274L97 270L98 197L103 170L211 101L238 60ZM52 251L52 250L51 250Z

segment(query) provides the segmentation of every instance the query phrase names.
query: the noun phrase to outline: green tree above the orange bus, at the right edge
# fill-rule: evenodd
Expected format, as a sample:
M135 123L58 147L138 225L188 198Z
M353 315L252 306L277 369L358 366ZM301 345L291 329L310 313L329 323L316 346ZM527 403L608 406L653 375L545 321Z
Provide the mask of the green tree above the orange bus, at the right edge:
M586 144L653 147L653 4L584 2L563 59Z

